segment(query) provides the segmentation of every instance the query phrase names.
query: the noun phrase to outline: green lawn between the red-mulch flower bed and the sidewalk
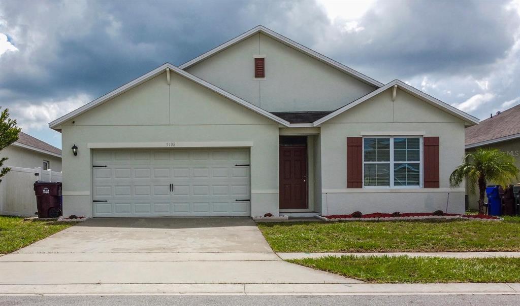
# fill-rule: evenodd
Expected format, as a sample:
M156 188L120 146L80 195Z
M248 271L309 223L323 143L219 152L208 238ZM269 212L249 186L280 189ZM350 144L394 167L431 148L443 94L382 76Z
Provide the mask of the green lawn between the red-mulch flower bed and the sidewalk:
M520 251L520 218L503 221L260 223L275 252Z

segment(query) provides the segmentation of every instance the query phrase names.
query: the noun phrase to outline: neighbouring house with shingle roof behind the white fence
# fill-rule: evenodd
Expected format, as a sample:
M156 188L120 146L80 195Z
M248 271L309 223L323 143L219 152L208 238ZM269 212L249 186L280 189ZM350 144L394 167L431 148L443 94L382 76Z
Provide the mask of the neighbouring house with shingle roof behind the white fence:
M18 140L2 150L4 165L20 168L42 168L61 172L61 150L31 135L20 132Z

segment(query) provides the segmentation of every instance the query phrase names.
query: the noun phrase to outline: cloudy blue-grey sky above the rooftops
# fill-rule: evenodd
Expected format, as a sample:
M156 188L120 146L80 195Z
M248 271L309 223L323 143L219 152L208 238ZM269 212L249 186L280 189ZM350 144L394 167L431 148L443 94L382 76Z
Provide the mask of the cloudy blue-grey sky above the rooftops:
M61 147L48 122L258 24L480 119L520 104L519 1L0 0L0 105Z

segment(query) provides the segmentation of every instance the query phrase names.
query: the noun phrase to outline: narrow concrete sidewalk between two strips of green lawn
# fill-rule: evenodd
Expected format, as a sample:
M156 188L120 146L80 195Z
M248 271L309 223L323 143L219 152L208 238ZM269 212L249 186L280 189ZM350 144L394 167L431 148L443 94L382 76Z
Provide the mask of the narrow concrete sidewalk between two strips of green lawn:
M409 256L409 257L447 257L447 258L492 258L511 257L520 258L520 252L391 252L391 253L277 253L283 260L318 258L323 256Z

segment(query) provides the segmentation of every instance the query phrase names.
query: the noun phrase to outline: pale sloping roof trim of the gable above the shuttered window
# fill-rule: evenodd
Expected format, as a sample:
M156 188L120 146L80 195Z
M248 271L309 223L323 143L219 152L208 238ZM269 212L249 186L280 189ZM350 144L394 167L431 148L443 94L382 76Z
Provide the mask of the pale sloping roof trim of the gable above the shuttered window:
M458 117L462 120L464 120L468 125L473 125L473 124L478 124L478 119L469 115L469 114L466 114L464 112L462 112L462 110L456 108L456 107L453 107L447 103L444 103L440 100L437 100L435 98L433 98L433 96L431 95L428 95L422 91L420 91L419 89L417 88L414 88L408 84L406 84L405 82L402 82L400 80L393 80L391 82L389 82L388 84L386 84L385 86L383 87L380 87L379 89L376 89L364 96L362 96L361 98L353 101L353 102L350 102L348 103L347 105L335 110L334 112L330 113L329 115L321 118L321 119L318 119L316 121L313 122L313 125L316 127L316 126L319 126L321 123L329 120L329 119L332 119L334 117L336 117L337 115L340 115L342 114L343 112L345 112L346 110L362 103L362 102L365 102L367 101L368 99L372 98L373 96L375 95L378 95L380 93L382 93L383 91L389 89L389 88L392 88L394 86L397 86L398 88L400 88L401 90L404 90L406 91L407 93L415 96L416 98L419 98L437 108L440 108L442 110L444 110L445 112L455 116L455 117Z

